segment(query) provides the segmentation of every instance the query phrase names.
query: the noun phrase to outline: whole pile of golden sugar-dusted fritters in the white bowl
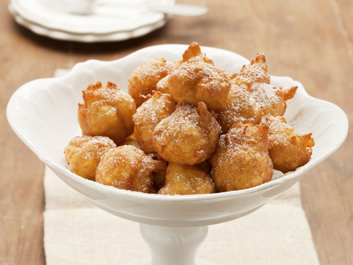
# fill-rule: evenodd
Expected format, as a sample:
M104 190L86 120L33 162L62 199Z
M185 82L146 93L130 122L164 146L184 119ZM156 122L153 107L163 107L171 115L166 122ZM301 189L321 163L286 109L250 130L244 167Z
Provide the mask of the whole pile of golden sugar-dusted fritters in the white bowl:
M119 189L157 194L242 190L311 158L311 133L282 117L297 87L271 85L264 54L228 76L197 42L182 60L153 58L126 93L100 82L83 90L65 159L75 174Z

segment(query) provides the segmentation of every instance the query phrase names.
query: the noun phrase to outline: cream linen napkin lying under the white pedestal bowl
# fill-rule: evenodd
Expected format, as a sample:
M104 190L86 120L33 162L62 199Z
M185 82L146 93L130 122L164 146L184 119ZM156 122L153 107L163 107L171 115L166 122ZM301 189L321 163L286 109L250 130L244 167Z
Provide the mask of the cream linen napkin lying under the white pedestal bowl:
M44 189L47 265L124 265L149 255L138 223L93 207L49 168ZM209 226L198 257L219 265L319 265L299 184L256 212Z

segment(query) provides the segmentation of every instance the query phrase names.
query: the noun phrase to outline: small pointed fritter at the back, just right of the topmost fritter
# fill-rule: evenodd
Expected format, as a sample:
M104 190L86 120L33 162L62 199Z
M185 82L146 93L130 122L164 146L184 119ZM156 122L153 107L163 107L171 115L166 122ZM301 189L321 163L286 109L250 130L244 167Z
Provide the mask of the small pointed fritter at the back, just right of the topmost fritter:
M263 53L258 53L248 65L243 65L239 73L231 75L231 79L243 77L248 82L270 84L270 75L267 73L266 57Z

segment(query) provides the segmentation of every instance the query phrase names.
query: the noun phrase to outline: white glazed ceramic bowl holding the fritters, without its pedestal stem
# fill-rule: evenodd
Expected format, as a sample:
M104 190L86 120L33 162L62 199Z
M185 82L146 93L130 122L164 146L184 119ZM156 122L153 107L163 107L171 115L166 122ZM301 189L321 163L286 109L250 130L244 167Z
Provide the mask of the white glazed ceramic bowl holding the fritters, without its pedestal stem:
M299 82L289 77L272 76L271 83L276 86L298 86L296 96L288 101L285 117L299 133L312 132L316 143L312 159L295 172L251 189L184 196L119 190L72 173L65 162L63 150L70 139L81 134L77 123L81 91L98 80L102 83L115 82L126 90L127 79L138 65L154 57L163 56L170 61L180 59L186 48L186 45L173 44L152 46L115 61L79 63L60 78L29 82L11 97L7 106L8 121L39 159L94 205L140 223L175 227L216 224L257 210L295 184L345 140L348 120L338 106L311 97ZM248 63L247 59L229 51L209 47L202 47L202 50L229 74Z

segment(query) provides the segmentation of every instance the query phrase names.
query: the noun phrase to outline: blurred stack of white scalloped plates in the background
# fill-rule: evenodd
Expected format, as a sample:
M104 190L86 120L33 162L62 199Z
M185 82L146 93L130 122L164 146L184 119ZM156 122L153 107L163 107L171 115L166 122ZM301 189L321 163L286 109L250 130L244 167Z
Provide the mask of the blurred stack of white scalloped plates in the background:
M118 5L97 6L90 15L65 12L58 8L58 1L11 0L9 10L17 23L34 33L79 42L121 41L139 37L164 26L170 18L143 7L148 0L118 0ZM174 3L174 0L159 2L168 4Z

